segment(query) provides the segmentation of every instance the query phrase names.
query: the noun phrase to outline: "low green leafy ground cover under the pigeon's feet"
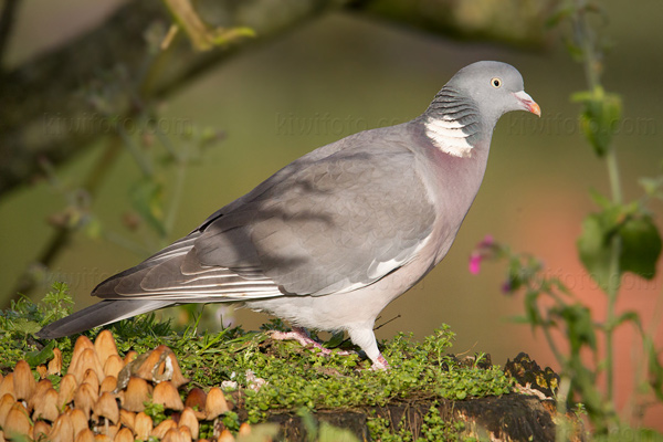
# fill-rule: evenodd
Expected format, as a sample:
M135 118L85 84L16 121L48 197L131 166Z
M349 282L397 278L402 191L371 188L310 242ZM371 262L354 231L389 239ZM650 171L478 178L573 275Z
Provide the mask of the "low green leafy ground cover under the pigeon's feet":
M72 338L50 340L40 346L28 330L36 329L45 318L55 319L67 312L71 299L65 285L55 285L40 305L23 298L13 309L2 312L0 350L4 369L25 358L32 366L44 364L52 357L56 344L63 351L65 366L71 360ZM60 312L53 315L52 312ZM19 324L19 329L13 325ZM282 323L274 323L283 327ZM513 380L498 367L481 368L482 354L473 365L459 364L448 355L453 333L448 326L436 329L423 341L399 334L381 343L383 355L390 360L389 371L370 370L370 361L358 355L322 356L318 351L302 348L293 341L269 338L264 332L246 333L241 328L227 328L219 333L196 333L191 326L176 332L169 322L159 323L155 315L143 315L112 326L120 354L128 350L148 351L160 344L169 346L193 385L219 386L234 381L241 389L243 407L250 423L265 420L271 410L298 411L302 415L324 409L351 409L387 406L408 398L463 400L501 396L513 391ZM97 330L87 332L94 339ZM343 345L341 347L347 347ZM31 351L31 352L30 352ZM166 419L162 407L147 404L146 413L155 423ZM432 412L431 412L432 413ZM236 431L239 414L229 412L223 424ZM424 440L436 434L456 432L456 427L445 427L433 414L427 418ZM313 430L312 430L313 431ZM316 427L319 440L337 440L343 434L326 424ZM425 435L428 434L428 435Z

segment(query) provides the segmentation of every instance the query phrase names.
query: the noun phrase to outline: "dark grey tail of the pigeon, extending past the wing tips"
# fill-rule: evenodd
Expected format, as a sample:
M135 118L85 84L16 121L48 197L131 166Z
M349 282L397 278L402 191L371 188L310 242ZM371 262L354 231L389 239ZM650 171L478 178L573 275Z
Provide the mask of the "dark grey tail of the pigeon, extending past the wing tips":
M43 339L61 338L168 307L169 305L172 305L172 303L167 301L105 299L49 324L39 330L35 336Z

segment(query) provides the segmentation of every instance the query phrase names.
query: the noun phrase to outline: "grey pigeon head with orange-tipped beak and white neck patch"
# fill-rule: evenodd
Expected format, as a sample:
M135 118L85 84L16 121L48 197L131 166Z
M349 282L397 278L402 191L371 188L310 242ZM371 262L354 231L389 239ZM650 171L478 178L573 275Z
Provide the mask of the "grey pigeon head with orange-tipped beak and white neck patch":
M427 136L441 150L472 156L482 141L490 144L499 117L512 110L541 115L524 91L523 76L512 65L477 62L460 70L435 95L423 114Z

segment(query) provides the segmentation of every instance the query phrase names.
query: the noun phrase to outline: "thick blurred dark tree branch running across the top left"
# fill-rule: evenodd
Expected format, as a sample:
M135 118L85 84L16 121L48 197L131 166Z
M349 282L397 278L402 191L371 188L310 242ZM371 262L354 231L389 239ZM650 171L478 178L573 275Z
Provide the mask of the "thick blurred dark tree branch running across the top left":
M546 32L543 22L557 1L499 0L470 13L466 2L449 0L427 1L431 10L413 8L421 2L412 0L219 0L211 11L200 12L204 21L224 29L250 28L256 38L207 52L192 50L182 33L159 52L172 22L162 1L127 2L97 29L20 66L0 82L0 197L40 175L38 158L45 157L55 166L65 162L105 135L101 128L108 115L130 114L133 97L122 94L127 78L148 85L140 91L144 101L166 96L239 50L345 6L357 14L452 38L540 46ZM141 76L155 80L141 81ZM94 96L98 90L112 92L103 113Z

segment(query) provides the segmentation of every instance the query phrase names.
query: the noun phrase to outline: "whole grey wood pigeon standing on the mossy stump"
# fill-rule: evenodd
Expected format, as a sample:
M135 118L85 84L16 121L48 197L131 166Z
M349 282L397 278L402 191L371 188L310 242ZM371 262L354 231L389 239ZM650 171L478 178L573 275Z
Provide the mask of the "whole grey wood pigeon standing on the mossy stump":
M509 110L540 114L512 66L461 70L412 122L366 130L284 167L189 235L101 283L55 338L183 303L233 302L298 327L346 330L386 367L382 308L446 254Z

